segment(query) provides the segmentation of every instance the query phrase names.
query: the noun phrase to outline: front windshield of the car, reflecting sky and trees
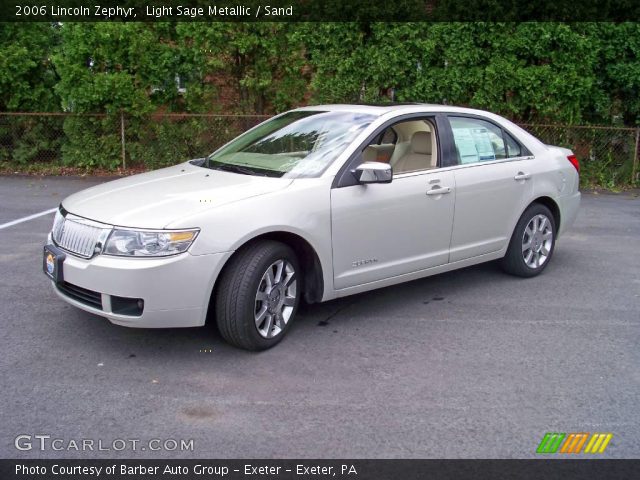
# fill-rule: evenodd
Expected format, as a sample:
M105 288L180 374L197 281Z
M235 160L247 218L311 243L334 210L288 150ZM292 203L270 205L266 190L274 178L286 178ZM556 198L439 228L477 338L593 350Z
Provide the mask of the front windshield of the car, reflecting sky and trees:
M212 153L203 166L245 175L317 177L374 119L355 112L288 112Z

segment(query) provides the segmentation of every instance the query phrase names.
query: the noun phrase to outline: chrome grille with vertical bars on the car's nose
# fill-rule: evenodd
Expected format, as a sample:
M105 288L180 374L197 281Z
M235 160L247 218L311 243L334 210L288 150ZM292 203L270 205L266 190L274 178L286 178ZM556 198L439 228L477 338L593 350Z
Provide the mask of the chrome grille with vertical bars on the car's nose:
M93 256L96 243L100 235L104 231L89 220L72 215L63 216L60 212L56 213L53 222L53 241L63 250L75 253L84 258Z

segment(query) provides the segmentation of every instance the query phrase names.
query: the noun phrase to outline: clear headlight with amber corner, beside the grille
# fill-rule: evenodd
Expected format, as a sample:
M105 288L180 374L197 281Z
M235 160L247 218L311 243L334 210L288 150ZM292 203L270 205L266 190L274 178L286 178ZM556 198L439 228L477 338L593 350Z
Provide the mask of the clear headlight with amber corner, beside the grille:
M198 230L112 230L102 250L122 257L166 257L182 253L198 236Z

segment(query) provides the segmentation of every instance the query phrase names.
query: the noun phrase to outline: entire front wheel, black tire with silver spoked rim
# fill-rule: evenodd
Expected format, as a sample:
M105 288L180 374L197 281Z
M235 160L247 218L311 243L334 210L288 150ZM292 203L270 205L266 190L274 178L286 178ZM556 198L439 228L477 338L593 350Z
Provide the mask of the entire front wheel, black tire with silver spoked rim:
M277 344L296 314L301 278L295 253L283 243L261 241L239 251L225 267L214 299L224 339L246 350Z

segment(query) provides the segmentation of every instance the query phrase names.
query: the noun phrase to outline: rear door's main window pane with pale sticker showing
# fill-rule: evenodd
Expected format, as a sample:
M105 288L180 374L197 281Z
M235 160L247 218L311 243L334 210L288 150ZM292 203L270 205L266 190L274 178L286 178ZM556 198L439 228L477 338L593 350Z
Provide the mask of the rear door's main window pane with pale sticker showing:
M458 163L487 162L507 158L502 129L476 118L449 117Z

